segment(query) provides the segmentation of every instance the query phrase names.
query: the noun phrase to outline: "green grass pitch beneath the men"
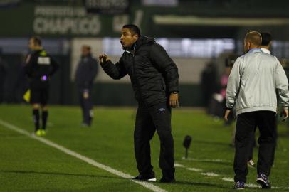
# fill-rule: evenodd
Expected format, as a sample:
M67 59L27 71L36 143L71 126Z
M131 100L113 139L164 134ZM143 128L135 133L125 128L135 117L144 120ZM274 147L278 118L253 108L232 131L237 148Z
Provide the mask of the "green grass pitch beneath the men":
M135 112L133 107L95 107L93 126L82 128L79 107L51 106L45 138L101 164L136 176L133 148ZM31 107L28 105L0 105L0 120L33 132ZM177 182L155 182L154 185L176 192L233 191L233 183L223 179L233 178L234 149L229 146L232 129L233 125L224 127L224 122L214 121L202 110L173 110ZM271 191L289 191L288 130L285 124L279 124L278 147L270 175L271 183L277 188ZM184 160L182 142L187 134L193 139L189 149L190 159ZM151 147L152 164L159 179L157 133ZM258 151L254 149L254 160L257 157ZM252 187L245 191L261 191L255 187L255 181L256 169L249 168L248 183ZM0 124L0 191L150 190Z

